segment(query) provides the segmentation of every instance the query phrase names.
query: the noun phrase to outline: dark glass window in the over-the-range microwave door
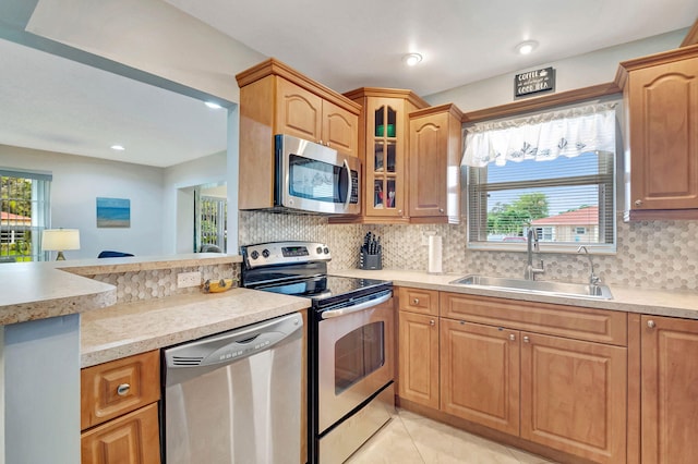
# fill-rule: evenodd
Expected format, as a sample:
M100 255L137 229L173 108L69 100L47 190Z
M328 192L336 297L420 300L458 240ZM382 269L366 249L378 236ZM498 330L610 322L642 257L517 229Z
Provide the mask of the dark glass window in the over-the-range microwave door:
M291 196L323 203L347 203L350 174L344 167L291 154L288 171Z

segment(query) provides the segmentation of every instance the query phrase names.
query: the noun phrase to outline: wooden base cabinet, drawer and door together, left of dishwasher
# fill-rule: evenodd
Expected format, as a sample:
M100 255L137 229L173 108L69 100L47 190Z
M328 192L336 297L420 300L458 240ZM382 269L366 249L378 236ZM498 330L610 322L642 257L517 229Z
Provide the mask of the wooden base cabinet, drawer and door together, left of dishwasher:
M82 369L82 463L159 463L159 399L157 350Z

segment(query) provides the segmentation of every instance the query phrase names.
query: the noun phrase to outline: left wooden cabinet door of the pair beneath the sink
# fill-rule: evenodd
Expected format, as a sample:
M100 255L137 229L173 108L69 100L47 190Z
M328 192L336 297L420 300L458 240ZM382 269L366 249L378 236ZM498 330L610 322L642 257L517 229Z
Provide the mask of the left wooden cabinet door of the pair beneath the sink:
M518 331L441 320L441 410L519 434Z

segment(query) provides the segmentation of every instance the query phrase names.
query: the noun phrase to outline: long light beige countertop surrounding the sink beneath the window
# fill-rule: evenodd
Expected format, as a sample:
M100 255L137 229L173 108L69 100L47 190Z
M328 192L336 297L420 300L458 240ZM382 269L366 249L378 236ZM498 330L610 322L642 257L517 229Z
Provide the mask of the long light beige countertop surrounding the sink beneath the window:
M541 295L534 293L504 291L484 288L450 284L449 282L467 276L462 273L430 274L423 271L405 270L361 270L345 269L330 272L333 276L358 277L364 279L390 280L397 286L438 290L444 292L467 293L471 295L494 296L529 302L554 303L589 308L624 310L628 313L651 314L658 316L698 319L698 292L666 290L645 290L610 285L613 300L567 297Z

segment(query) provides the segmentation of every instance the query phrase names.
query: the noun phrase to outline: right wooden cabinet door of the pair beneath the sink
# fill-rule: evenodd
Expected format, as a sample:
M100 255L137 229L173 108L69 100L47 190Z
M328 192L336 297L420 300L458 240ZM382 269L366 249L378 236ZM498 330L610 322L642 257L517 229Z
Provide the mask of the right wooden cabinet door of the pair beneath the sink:
M521 340L521 438L625 462L627 349L528 332Z

